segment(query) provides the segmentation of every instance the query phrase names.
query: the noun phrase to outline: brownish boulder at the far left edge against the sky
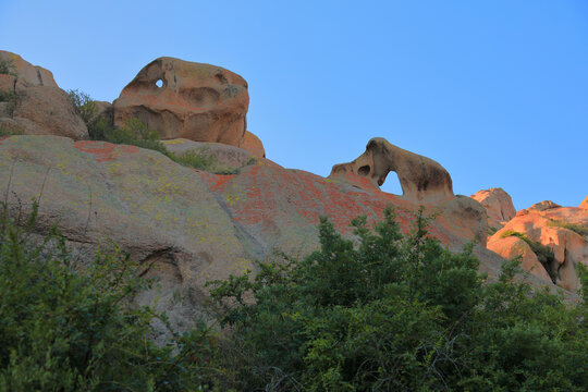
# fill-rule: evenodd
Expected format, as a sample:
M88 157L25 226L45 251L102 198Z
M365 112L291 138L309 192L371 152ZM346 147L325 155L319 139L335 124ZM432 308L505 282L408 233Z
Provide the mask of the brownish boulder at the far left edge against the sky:
M12 74L0 75L0 90L10 110L0 110L0 125L27 135L87 138L84 121L51 72L34 66L19 54L0 51L0 61L12 64ZM10 98L9 98L10 97Z

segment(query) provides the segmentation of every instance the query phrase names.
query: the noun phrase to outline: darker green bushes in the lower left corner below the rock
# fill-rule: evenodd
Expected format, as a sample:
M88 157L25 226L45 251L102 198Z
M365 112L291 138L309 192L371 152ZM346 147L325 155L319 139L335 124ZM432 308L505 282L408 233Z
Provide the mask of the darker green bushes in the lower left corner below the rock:
M156 346L133 297L151 286L118 247L82 268L57 229L32 234L38 207L10 219L0 206L0 391L197 391L206 327ZM21 213L19 213L21 217Z

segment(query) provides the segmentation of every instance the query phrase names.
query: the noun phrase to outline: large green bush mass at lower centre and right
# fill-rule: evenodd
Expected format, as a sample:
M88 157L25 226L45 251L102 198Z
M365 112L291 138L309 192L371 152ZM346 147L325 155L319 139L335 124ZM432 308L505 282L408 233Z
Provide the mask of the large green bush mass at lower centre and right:
M231 387L586 390L586 307L531 295L517 261L482 285L471 246L451 254L427 235L428 220L419 211L403 236L389 210L375 232L358 218L353 242L321 219L320 250L212 282L232 331Z

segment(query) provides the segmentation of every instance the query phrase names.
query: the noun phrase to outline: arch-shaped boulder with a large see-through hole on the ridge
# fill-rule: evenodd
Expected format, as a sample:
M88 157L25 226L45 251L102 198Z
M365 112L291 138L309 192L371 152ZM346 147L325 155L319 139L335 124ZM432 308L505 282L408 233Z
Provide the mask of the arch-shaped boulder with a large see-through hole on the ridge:
M367 144L366 151L348 163L335 164L329 177L344 179L363 188L379 189L388 173L396 172L403 198L415 204L453 197L448 171L430 158L404 150L382 137Z

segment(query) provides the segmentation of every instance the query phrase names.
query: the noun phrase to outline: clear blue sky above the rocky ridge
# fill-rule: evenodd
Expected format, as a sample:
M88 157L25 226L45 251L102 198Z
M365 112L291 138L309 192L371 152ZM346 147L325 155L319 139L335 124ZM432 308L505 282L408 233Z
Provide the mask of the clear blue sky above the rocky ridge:
M588 194L586 0L0 0L0 49L108 101L161 56L223 66L287 168L328 175L382 136L456 194ZM383 189L401 192L392 173Z

